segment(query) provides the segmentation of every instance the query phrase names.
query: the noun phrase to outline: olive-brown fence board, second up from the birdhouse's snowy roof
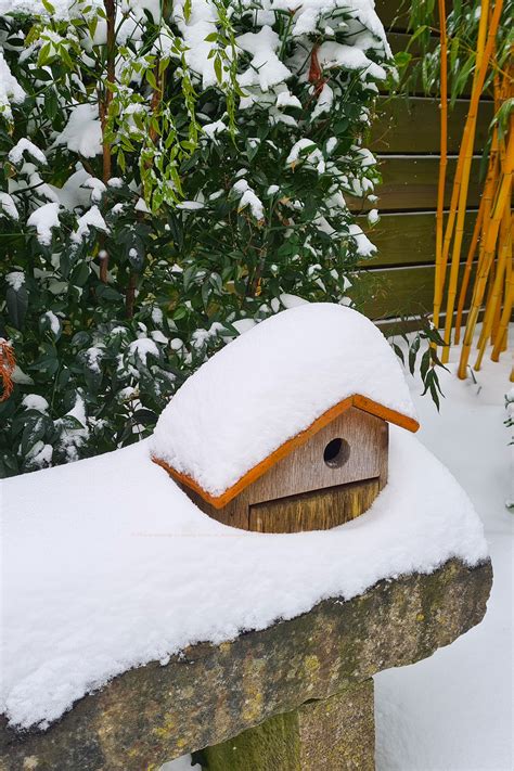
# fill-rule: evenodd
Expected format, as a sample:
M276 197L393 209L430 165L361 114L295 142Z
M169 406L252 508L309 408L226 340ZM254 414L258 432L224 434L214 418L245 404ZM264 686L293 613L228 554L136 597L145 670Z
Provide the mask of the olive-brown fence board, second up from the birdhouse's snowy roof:
M470 245L476 213L468 211L464 222L462 254ZM378 249L376 257L362 260L363 268L397 267L434 264L436 259L435 211L385 214L373 228L364 216L358 223Z

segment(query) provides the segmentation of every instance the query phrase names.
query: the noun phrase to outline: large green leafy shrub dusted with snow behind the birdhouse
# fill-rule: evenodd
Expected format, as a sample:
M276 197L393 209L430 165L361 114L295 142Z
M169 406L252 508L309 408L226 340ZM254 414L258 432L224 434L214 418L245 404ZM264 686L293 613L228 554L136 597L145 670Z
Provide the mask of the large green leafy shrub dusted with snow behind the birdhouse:
M373 246L371 0L0 0L0 474L136 440Z

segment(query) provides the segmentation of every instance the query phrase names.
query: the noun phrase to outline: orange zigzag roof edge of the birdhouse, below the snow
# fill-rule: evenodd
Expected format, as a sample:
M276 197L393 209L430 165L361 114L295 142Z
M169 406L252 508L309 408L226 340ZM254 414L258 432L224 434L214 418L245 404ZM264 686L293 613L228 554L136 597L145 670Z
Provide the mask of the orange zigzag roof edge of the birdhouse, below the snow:
M343 399L343 401L339 401L337 404L334 404L334 407L331 407L329 410L323 412L323 414L317 417L316 421L311 423L308 428L305 428L292 439L287 439L287 441L284 441L283 445L278 447L277 450L274 450L271 454L265 458L264 461L260 461L260 463L257 463L257 465L247 471L246 474L244 474L240 479L237 479L237 481L232 485L232 487L229 487L224 492L222 492L221 496L211 496L209 492L204 490L204 488L201 487L201 485L198 485L198 483L195 481L191 476L189 476L188 474L181 474L180 472L176 471L176 468L170 466L168 463L166 463L166 461L163 461L160 458L153 457L152 460L154 463L165 468L170 476L177 479L177 481L180 481L182 485L185 485L187 487L197 492L198 496L204 499L204 501L210 503L215 509L222 509L233 498L239 496L240 492L245 489L245 487L252 485L252 483L262 476L262 474L266 474L266 472L269 471L271 466L273 466L286 455L288 455L297 447L301 447L301 445L305 445L305 442L310 439L310 437L314 436L314 434L317 434L321 428L324 428L324 426L329 425L329 423L332 423L333 420L343 414L343 412L346 412L346 410L348 410L350 407L357 407L359 410L363 410L363 412L369 412L372 415L382 417L384 421L395 423L396 425L401 426L402 428L407 428L411 432L416 432L420 427L420 424L413 417L403 415L401 412L397 412L396 410L390 410L388 407L384 407L377 401L373 401L372 399L369 399L365 396L355 394L354 396L349 396L347 399Z

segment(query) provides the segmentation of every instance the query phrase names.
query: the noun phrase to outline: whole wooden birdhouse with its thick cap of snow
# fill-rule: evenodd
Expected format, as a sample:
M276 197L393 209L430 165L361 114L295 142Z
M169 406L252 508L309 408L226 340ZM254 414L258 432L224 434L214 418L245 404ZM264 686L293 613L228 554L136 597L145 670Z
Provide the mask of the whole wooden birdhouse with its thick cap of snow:
M192 375L163 412L152 454L226 525L327 529L365 512L386 485L389 423L419 427L382 333L346 307L306 304Z

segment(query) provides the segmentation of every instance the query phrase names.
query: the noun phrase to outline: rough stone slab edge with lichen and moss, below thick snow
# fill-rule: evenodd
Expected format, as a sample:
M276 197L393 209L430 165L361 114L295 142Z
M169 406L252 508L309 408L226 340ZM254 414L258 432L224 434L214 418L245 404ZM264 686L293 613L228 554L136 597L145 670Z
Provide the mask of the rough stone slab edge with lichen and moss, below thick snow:
M491 582L490 562L451 560L429 576L381 581L348 602L325 600L231 643L125 672L44 733L18 734L0 718L0 770L26 771L26 758L38 771L158 768L432 655L479 624Z

